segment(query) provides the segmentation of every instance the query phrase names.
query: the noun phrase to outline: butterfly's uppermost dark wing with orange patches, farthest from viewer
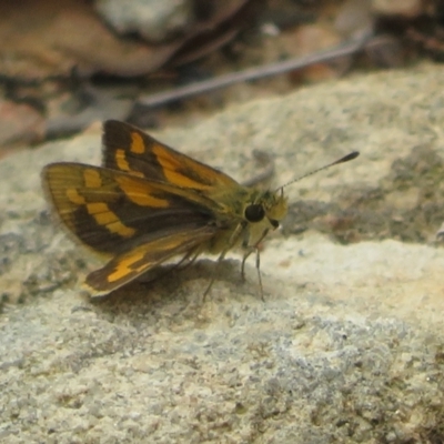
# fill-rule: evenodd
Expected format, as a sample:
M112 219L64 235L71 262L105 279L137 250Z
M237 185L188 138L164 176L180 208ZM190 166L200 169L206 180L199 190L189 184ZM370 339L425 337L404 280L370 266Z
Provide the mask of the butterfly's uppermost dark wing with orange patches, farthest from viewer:
M128 123L103 123L103 167L150 180L199 190L211 195L214 190L240 186L236 181L159 142Z

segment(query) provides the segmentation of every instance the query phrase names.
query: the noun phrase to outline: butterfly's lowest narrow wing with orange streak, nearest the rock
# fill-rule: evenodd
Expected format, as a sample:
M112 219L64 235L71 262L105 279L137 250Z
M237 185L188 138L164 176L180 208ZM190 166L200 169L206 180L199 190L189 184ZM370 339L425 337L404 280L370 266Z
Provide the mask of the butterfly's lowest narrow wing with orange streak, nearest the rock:
M202 226L182 229L179 233L153 239L113 258L102 269L90 273L85 284L97 295L109 293L175 255L198 252L202 243L213 235L210 226Z

